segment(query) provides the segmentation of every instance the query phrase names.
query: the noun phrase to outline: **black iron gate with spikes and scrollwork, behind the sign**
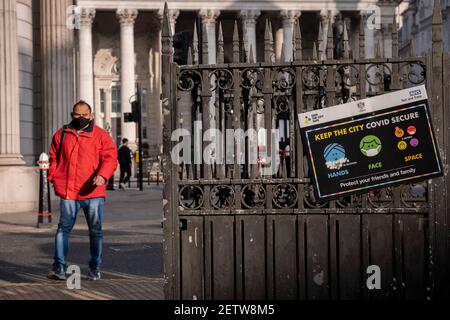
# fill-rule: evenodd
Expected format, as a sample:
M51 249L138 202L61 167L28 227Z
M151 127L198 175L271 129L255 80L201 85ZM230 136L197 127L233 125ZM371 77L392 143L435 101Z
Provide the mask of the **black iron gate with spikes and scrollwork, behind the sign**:
M447 168L450 58L442 52L439 7L433 18L433 51L425 57L399 58L392 24L392 58L382 58L377 46L376 58L365 59L362 22L360 30L360 45L352 56L345 31L342 57L334 59L328 32L326 52L314 47L313 56L304 59L297 24L294 61L275 64L267 22L265 62L240 63L243 53L236 25L232 63L223 63L219 34L219 64L198 64L194 38L194 58L188 59L190 65L178 66L172 63L166 12L162 39L166 298L448 297L447 171L445 178L325 203L317 202L312 192L297 114L418 84L426 84L431 97ZM202 54L207 56L203 40ZM327 58L320 59L322 55ZM234 147L233 161L226 161L228 154L221 146L236 142L233 136L210 137L216 145L212 148L211 141L195 135L208 129L223 133L260 127L282 133L276 143L268 139L258 145L260 157L252 163L254 150L248 146ZM180 146L183 151L177 149ZM274 152L280 163L267 174L264 156ZM239 156L245 160L241 164ZM371 265L380 268L379 290L366 284Z

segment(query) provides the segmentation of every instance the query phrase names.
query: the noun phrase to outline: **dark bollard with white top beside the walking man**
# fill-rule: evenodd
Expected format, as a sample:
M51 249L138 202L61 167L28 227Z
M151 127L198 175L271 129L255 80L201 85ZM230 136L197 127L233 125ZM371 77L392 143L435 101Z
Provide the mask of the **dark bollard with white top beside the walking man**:
M50 202L50 183L47 181L47 172L50 168L48 155L43 152L39 156L39 212L37 228L42 224L52 222L52 208Z

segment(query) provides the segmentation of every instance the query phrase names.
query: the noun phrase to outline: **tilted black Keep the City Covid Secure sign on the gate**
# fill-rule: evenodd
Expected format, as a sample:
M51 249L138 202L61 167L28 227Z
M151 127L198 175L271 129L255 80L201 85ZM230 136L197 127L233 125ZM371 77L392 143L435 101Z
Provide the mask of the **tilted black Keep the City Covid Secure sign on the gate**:
M443 174L423 85L298 117L319 200Z

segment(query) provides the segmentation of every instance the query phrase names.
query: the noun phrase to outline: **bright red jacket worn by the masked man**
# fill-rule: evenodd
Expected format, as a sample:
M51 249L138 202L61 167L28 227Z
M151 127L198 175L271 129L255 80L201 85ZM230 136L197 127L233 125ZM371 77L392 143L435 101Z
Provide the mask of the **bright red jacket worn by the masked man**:
M53 183L56 195L67 200L106 197L107 183L97 187L92 181L95 176L108 180L116 170L117 147L114 141L93 122L80 133L69 125L65 129L58 161L62 130L55 133L50 147L48 180Z

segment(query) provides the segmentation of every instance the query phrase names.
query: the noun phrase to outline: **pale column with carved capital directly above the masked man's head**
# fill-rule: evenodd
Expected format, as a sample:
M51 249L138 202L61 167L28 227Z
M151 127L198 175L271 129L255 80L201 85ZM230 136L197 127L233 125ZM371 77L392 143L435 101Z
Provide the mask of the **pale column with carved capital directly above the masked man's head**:
M95 18L95 9L82 8L80 14L80 99L94 107L94 69L92 55L92 22ZM97 112L97 110L95 111ZM97 121L96 121L97 122Z

